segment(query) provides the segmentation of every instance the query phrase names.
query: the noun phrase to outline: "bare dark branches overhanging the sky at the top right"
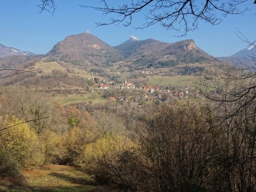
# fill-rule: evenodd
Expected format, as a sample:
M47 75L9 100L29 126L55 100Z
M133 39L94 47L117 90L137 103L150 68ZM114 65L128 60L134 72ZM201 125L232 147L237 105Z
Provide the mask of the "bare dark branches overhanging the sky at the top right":
M242 14L248 8L239 9L238 5L246 1L136 0L126 1L123 4L114 6L109 1L103 0L102 7L80 6L101 11L103 15L114 15L114 17L110 17L109 22L98 22L98 26L120 23L124 26L130 26L133 17L139 12L143 12L144 24L136 28L147 28L160 24L167 30L179 31L181 36L184 36L189 31L195 30L199 25L199 21L218 25L228 15Z

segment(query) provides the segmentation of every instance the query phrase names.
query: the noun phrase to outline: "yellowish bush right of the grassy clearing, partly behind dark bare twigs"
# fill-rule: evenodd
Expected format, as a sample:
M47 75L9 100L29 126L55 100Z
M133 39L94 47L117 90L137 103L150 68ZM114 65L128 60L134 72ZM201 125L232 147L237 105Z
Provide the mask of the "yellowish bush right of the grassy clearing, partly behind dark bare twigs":
M95 174L100 183L115 183L133 189L133 178L138 177L130 166L136 159L136 147L124 136L106 133L102 138L85 146L80 166Z

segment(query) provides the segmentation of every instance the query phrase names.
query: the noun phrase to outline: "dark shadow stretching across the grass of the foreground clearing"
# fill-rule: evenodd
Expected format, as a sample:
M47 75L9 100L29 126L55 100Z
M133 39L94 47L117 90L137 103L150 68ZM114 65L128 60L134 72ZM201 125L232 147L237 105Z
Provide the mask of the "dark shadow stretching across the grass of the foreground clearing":
M67 182L75 183L75 184L81 184L81 185L95 185L95 181L91 178L86 177L72 177L69 174L64 173L51 173L51 176L63 179Z

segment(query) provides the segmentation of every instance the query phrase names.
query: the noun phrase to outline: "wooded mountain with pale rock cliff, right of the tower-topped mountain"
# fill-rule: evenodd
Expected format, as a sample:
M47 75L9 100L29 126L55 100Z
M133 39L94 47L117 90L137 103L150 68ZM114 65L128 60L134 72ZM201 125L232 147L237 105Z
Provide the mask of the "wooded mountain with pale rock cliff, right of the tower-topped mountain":
M197 48L194 40L164 43L147 39L125 42L115 46L131 63L129 68L173 67L182 63L212 63L216 59Z

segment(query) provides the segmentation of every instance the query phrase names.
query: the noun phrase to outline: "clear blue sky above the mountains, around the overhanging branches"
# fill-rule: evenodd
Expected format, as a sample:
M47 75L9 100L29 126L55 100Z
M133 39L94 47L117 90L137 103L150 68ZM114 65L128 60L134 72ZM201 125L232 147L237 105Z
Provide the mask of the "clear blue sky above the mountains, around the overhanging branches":
M243 15L230 15L217 26L201 22L198 30L189 32L182 38L174 37L177 36L176 31L166 31L160 25L135 30L133 26L142 22L141 16L134 20L131 27L96 27L95 22L104 21L106 17L96 10L81 8L79 4L98 5L100 0L56 0L54 15L46 11L39 14L40 9L36 5L40 4L40 0L0 2L0 43L36 54L45 54L65 37L86 30L112 46L125 42L131 35L141 40L153 38L168 43L194 39L199 48L213 56L230 56L246 48L247 43L236 36L236 28L249 40L256 40L256 4L253 4L253 0L241 5L241 8L251 9Z

